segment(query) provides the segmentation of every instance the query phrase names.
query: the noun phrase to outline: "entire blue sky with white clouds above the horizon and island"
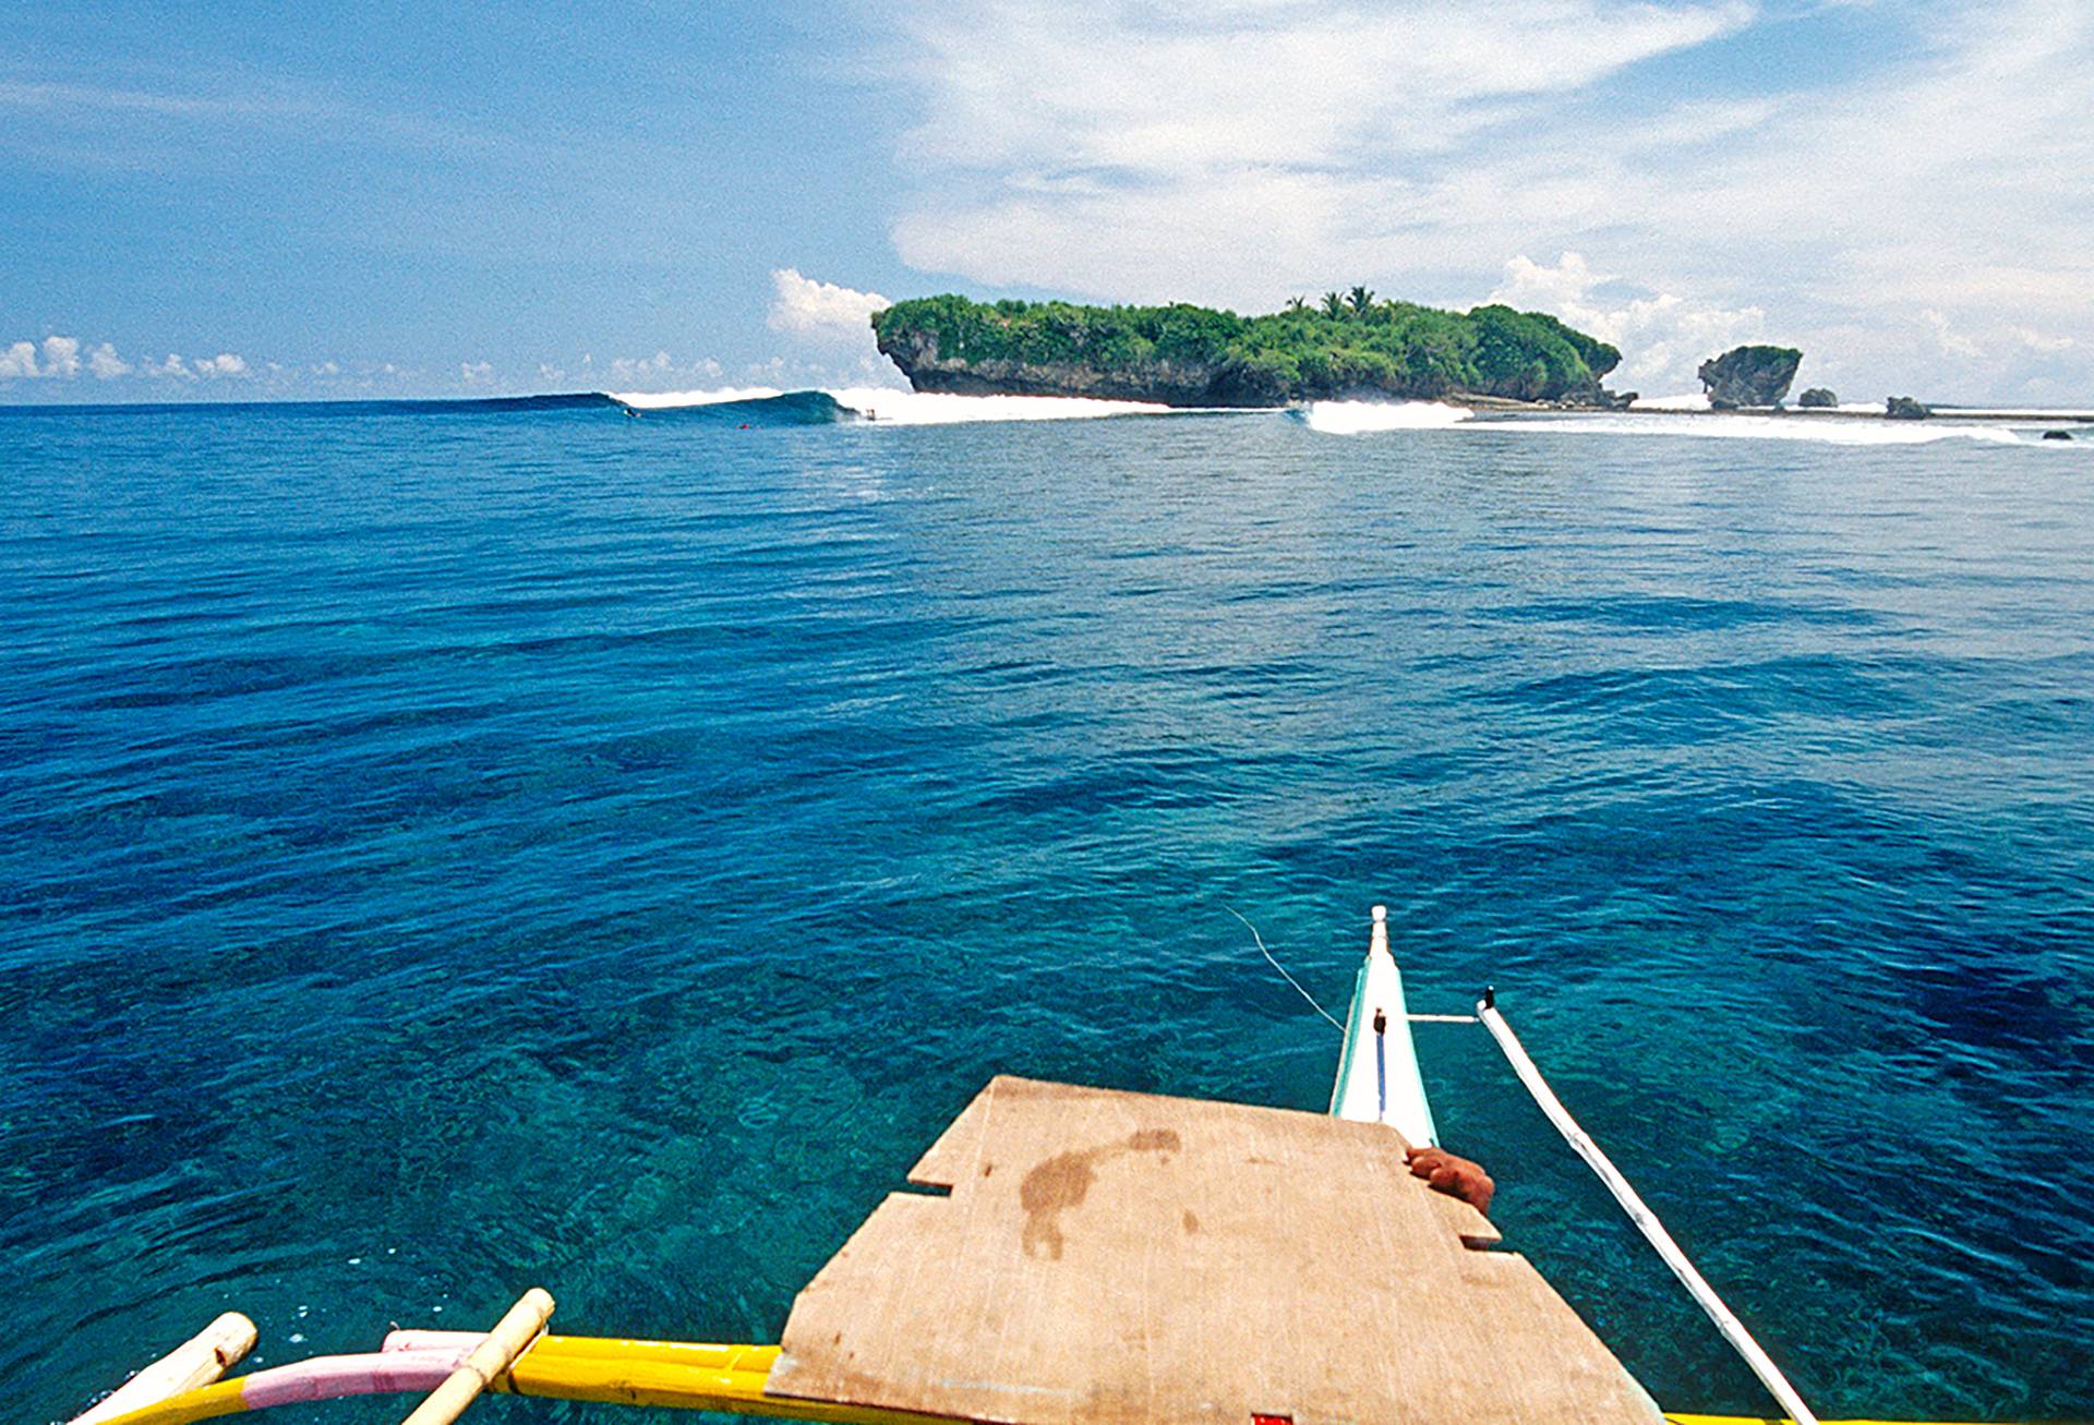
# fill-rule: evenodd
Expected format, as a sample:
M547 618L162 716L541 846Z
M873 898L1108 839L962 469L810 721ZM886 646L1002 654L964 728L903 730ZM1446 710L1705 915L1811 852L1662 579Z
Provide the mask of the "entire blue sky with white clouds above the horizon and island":
M0 8L0 402L892 385L888 299L2094 404L2094 0Z

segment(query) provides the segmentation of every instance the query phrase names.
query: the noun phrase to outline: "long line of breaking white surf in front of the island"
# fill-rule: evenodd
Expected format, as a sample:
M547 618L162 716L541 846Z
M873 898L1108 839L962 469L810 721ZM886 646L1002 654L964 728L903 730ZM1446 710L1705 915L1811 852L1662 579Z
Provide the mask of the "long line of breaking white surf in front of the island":
M1836 416L1711 412L1694 398L1644 402L1627 412L1501 412L1445 402L1326 400L1298 406L1212 408L1162 406L1074 395L951 395L898 387L838 387L783 391L777 387L720 387L708 391L611 391L607 400L641 414L683 414L737 425L967 425L997 421L1099 421L1127 416L1284 416L1323 435L1390 435L1447 431L1462 435L1642 435L1681 439L1774 439L1820 446L1931 446L1979 442L2042 446L2058 452L2094 452L2094 429L2079 410L1956 410L1935 421L1870 419L1859 410ZM2002 421L2006 414L2010 421ZM1962 419L1958 419L1962 416ZM2067 429L2073 439L2044 439L2046 429Z

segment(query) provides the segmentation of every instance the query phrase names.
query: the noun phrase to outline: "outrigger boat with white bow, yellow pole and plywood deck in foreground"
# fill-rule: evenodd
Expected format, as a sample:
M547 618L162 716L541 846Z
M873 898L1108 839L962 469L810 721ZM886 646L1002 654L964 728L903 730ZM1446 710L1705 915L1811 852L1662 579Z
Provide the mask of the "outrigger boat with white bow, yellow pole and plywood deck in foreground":
M553 1297L488 1333L394 1331L377 1352L222 1379L239 1314L73 1425L186 1425L421 1394L448 1425L482 1394L836 1425L1748 1425L1663 1412L1466 1201L1405 1168L1439 1134L1411 1025L1483 1023L1717 1329L1818 1425L1606 1155L1491 994L1413 1015L1374 908L1330 1113L995 1078L800 1291L777 1345L553 1335ZM1761 1417L1753 1417L1761 1419Z

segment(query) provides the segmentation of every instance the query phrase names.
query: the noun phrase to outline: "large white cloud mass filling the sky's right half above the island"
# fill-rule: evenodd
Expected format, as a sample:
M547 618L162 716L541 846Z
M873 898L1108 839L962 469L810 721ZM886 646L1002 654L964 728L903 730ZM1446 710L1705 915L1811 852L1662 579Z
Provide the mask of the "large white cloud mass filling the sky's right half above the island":
M923 272L1248 310L1361 280L1466 308L1514 257L1577 251L1640 285L1581 295L1617 316L1627 370L1661 372L1638 379L1757 312L1813 372L1822 354L1868 383L1977 372L2021 395L2033 368L1996 366L2014 352L2060 393L2094 385L2088 0L1883 6L1866 40L1832 8L1725 2L894 15L913 128L892 239ZM1715 65L1684 90L1648 65L1776 25L1849 46L1841 77L1769 90L1778 67ZM1916 333L1920 310L1985 364Z

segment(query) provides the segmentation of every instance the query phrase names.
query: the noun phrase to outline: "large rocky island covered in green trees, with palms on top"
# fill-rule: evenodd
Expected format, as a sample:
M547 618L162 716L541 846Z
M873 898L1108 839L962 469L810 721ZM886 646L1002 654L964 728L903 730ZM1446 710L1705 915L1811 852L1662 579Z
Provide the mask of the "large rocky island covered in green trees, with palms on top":
M879 352L917 391L1089 395L1160 406L1307 400L1522 402L1625 408L1600 385L1621 352L1539 312L1443 312L1365 287L1265 316L1173 303L970 301L873 314Z

